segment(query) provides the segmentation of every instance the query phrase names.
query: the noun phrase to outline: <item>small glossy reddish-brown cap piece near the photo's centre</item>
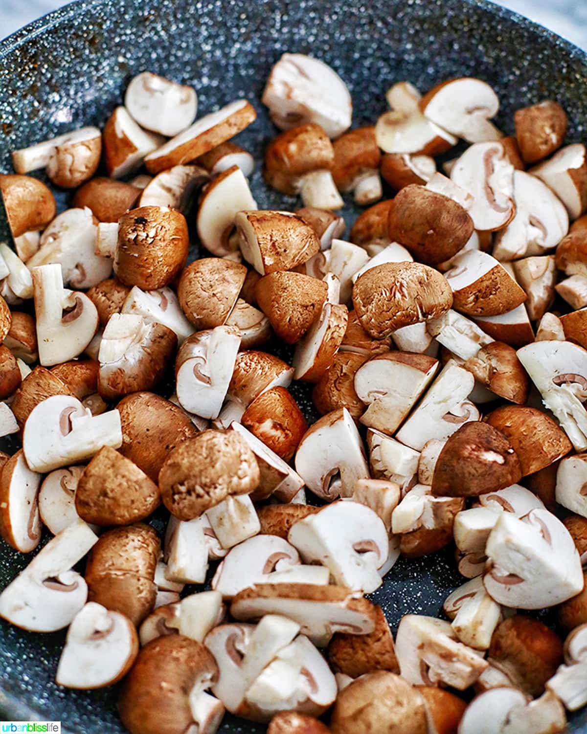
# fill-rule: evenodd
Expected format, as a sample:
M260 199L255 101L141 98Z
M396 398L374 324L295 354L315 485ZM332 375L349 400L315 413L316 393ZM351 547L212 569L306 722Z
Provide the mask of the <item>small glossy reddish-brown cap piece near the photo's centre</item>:
M286 462L308 428L298 403L281 387L265 390L254 399L241 423Z

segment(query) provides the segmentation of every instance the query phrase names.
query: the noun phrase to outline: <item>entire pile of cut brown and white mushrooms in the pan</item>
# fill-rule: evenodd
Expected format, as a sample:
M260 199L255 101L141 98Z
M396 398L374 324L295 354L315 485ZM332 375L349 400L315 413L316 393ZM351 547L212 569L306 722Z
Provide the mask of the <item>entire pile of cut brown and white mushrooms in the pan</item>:
M505 136L480 79L386 99L350 130L334 70L278 60L263 175L295 211L256 206L249 101L196 119L148 72L0 175L0 534L52 536L0 616L67 628L57 683L121 681L131 734L553 734L587 704L587 150L550 100ZM394 639L368 595L442 549L463 584Z

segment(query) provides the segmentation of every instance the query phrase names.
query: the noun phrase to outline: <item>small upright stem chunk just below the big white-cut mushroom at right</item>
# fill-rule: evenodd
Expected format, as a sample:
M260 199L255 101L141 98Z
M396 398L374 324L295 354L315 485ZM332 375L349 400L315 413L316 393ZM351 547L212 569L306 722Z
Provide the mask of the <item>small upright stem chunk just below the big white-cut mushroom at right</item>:
M444 600L458 639L475 650L489 650L491 635L502 619L501 607L486 592L478 576L459 586Z

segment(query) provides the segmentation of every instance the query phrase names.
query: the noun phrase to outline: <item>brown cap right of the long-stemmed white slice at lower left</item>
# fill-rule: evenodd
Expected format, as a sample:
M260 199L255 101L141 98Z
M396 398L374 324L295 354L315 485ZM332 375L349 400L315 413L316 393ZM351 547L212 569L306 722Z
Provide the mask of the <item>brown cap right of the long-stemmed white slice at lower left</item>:
M87 557L88 600L125 614L138 625L155 603L160 550L156 531L143 523L103 533Z

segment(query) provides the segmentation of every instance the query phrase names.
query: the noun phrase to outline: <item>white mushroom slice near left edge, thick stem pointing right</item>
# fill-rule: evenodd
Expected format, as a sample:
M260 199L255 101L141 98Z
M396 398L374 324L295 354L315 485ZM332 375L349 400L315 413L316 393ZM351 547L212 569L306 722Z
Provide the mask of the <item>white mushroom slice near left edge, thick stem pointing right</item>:
M69 395L54 395L31 411L24 424L23 451L34 471L49 472L83 462L102 446L120 448L120 413L92 415Z

